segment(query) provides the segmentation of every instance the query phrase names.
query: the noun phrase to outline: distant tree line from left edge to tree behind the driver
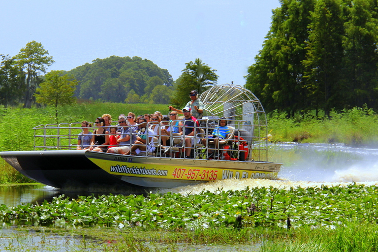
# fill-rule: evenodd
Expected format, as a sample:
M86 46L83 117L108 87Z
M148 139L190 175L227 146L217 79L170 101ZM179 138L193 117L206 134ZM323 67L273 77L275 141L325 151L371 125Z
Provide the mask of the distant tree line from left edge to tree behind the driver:
M200 59L186 63L176 80L168 70L139 57L111 56L96 59L70 71L51 71L53 57L41 43L28 42L14 57L1 55L0 104L5 107L24 103L58 105L82 100L125 103L186 104L195 89L205 91L216 84L214 69ZM45 75L43 75L45 74Z

